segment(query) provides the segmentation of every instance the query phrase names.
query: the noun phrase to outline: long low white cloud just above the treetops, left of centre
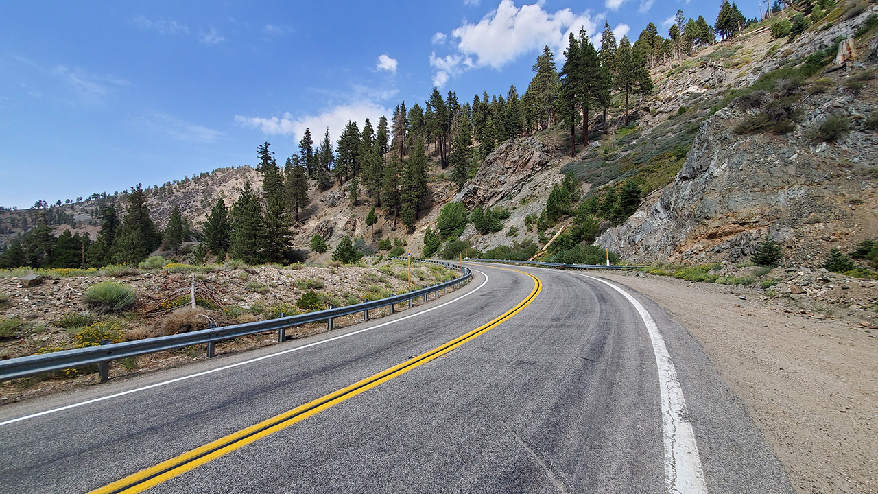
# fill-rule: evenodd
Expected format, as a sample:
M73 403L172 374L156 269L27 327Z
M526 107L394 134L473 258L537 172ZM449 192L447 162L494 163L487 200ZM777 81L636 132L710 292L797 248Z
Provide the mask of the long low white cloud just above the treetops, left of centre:
M302 134L305 134L305 129L310 128L314 142L320 143L323 141L323 134L328 128L329 138L332 140L333 145L335 145L348 120L356 121L360 127L363 127L363 122L366 119L371 120L373 122L372 125L378 125L378 119L382 115L388 116L391 114L392 111L383 105L378 105L371 101L363 101L349 105L338 105L318 115L294 117L289 112L284 113L279 118L235 115L234 122L241 127L257 128L267 135L290 135L293 142L299 142Z

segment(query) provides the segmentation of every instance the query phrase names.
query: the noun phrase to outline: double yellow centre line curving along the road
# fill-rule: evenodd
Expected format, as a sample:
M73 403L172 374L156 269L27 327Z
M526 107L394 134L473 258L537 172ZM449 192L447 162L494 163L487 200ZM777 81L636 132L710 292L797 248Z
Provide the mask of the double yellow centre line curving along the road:
M168 461L162 461L158 465L155 465L155 467L140 470L136 474L126 476L119 481L101 487L99 489L92 490L90 494L132 494L134 492L142 492L143 490L155 487L155 485L184 474L185 472L188 472L189 470L194 469L199 465L204 465L208 461L215 460L220 456L231 453L241 447L247 446L255 440L260 440L265 436L270 435L271 433L285 429L286 427L289 427L290 425L296 424L301 420L316 415L323 410L327 410L328 408L333 407L338 403L342 403L343 401L348 400L354 396L357 396L366 390L375 388L382 382L390 381L394 377L405 374L415 367L422 366L431 360L435 360L443 356L444 354L454 350L458 346L464 345L464 343L466 343L467 341L478 337L480 334L491 331L493 328L500 325L500 323L507 321L507 319L515 316L515 314L518 314L522 309L527 307L530 302L536 298L536 295L540 293L540 290L543 289L543 282L532 274L517 271L515 269L497 269L505 269L506 271L515 271L521 272L522 274L527 274L530 278L534 280L534 288L533 290L531 290L527 298L519 302L514 308L509 309L505 314L497 317L490 323L486 323L485 325L480 326L479 328L476 328L475 330L470 331L463 336L452 339L450 342L438 346L433 350L430 350L429 352L421 353L421 355L414 357L414 359L406 360L399 365L385 369L378 374L374 374L371 377L363 379L362 381L357 381L347 388L339 389L338 391L330 393L326 396L322 396L311 403L306 403L292 410L285 411L284 413L269 418L268 420L263 420L263 422L260 422L256 425L251 425L246 429L241 429L241 431L233 432L224 438L212 441L202 447L197 447L187 453L180 454L175 458L171 458Z

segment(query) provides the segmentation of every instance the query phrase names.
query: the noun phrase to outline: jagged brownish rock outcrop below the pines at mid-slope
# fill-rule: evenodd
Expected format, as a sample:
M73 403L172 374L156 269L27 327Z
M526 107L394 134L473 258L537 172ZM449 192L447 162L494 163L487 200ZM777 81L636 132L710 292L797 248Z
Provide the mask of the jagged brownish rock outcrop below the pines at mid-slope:
M455 200L472 208L478 204L492 206L499 200L515 197L531 177L552 165L554 158L549 152L549 147L535 137L500 144Z

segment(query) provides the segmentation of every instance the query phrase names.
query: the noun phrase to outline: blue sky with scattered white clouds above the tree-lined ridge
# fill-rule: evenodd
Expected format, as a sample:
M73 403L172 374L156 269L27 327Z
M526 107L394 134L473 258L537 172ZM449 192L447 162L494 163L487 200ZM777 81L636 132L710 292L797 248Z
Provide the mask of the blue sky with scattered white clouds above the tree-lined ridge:
M473 95L527 89L543 45L637 39L677 9L719 0L437 2L4 2L0 5L0 206L76 199L278 161L347 120L377 125L434 84ZM758 16L756 3L740 5ZM621 37L621 36L618 36Z

